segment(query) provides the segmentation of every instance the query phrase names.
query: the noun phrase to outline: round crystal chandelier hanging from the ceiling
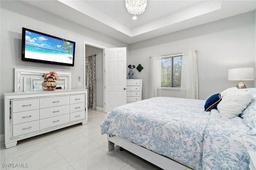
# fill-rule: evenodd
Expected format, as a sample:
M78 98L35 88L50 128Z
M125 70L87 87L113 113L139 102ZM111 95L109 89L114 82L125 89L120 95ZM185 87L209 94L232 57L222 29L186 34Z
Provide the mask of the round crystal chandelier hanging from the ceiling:
M142 14L147 6L147 0L125 0L125 6L132 15Z

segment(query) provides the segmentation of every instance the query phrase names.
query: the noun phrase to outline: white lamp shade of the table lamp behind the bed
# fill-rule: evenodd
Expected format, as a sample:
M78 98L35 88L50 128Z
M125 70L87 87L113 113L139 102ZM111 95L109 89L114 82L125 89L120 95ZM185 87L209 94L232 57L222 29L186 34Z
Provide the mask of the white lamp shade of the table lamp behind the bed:
M228 70L228 80L254 80L253 67Z

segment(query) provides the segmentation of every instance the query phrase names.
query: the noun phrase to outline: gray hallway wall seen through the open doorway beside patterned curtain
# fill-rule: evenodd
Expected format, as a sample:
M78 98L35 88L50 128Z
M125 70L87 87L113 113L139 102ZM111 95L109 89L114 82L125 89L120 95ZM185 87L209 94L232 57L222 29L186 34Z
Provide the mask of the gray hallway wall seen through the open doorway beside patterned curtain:
M95 79L96 79L96 102L97 107L103 109L103 49L85 45L85 56L96 54ZM87 60L87 59L86 59Z

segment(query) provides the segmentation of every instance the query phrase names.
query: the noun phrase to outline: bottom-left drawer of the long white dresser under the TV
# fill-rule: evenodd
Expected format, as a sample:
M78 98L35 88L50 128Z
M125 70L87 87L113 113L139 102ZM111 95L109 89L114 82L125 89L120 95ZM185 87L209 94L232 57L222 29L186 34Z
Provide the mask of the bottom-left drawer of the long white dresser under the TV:
M19 136L39 130L39 120L12 126L12 136Z

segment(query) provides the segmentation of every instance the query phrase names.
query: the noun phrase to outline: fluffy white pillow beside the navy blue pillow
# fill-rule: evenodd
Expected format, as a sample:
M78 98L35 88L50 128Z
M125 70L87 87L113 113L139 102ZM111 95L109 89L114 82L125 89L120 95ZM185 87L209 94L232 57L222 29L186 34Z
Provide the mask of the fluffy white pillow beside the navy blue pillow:
M253 94L250 91L244 91L232 87L220 93L221 101L217 105L222 118L232 118L238 116L250 104Z

